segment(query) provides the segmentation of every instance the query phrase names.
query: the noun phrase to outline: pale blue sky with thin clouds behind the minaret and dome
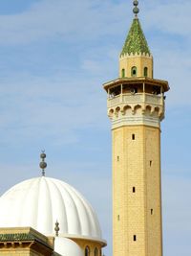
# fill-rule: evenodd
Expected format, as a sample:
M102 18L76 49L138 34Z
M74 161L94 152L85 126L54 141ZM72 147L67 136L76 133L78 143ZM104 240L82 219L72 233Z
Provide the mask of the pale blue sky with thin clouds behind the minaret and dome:
M161 128L165 256L191 251L191 3L139 1L139 18L168 80ZM102 83L117 78L132 1L0 1L0 194L40 175L74 185L96 208L112 255L111 134Z

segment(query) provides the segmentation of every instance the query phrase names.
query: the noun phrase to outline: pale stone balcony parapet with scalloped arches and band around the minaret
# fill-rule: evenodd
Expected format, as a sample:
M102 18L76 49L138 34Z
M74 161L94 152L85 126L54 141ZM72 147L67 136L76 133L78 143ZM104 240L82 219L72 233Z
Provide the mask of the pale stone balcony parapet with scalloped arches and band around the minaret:
M160 127L164 118L164 100L157 95L120 95L108 99L108 116L112 128L146 125Z

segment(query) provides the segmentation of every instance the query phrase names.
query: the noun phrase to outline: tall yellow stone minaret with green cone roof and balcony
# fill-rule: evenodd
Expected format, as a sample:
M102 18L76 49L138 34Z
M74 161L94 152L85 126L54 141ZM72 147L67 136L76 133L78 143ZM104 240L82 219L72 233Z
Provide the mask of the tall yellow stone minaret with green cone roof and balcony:
M168 82L135 18L119 57L119 78L103 84L113 142L113 255L162 256L160 122Z

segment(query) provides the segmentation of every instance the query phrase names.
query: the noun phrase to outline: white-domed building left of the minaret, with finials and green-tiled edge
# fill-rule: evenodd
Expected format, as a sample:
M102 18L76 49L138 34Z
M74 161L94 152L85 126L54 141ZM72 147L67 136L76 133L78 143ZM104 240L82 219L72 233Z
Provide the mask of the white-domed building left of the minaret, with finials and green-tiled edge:
M40 156L42 176L0 198L0 255L102 255L96 212L72 186L46 177L45 152Z

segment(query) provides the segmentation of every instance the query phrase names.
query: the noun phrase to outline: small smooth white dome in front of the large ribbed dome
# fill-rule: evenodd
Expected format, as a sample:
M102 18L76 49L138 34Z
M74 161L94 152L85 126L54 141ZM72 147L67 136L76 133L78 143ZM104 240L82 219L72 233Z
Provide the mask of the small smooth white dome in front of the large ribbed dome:
M54 251L62 256L83 256L83 251L78 244L67 238L55 237Z

